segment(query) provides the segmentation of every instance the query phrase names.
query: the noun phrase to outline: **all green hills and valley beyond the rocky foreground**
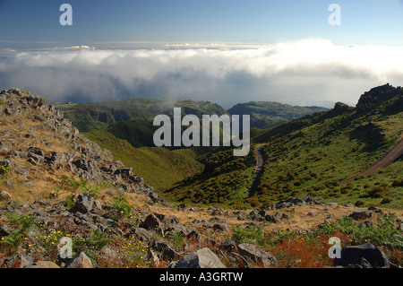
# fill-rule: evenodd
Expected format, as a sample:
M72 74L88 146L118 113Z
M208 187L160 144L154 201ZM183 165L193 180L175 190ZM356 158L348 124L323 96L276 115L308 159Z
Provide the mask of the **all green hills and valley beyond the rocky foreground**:
M76 126L90 130L86 133L90 140L133 167L134 173L171 201L249 208L314 195L340 204L402 208L402 160L369 178L340 184L371 167L401 138L401 88L389 84L373 88L361 96L356 107L338 102L330 110L271 102L236 105L228 112L250 112L253 120L253 145L246 157L234 157L230 148L150 147L157 128L152 126L152 118L160 113L172 115L174 103L184 114L199 117L227 112L210 102L194 100L128 99L58 108ZM287 122L279 124L281 120ZM276 126L256 127L268 124ZM245 199L256 167L257 144L265 144L266 160L257 192Z

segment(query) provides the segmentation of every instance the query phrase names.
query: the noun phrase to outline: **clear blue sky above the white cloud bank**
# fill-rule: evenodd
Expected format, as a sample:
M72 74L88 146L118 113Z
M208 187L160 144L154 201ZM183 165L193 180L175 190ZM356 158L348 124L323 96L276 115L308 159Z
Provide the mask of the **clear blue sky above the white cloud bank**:
M73 26L59 24L63 3L73 6ZM340 26L328 23L332 3L341 7ZM402 45L402 15L400 0L0 0L0 48L309 37L340 45Z

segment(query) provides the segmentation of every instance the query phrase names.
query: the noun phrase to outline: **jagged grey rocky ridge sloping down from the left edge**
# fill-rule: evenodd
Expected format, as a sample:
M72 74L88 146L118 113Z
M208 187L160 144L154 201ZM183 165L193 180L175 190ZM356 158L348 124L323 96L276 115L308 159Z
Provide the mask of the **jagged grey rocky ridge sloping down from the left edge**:
M146 185L141 177L133 174L131 168L126 168L122 162L113 160L109 151L102 150L98 144L87 140L69 119L64 118L63 112L48 105L45 98L13 88L2 91L0 100L3 102L0 105L0 115L24 116L37 123L35 128L57 134L63 138L65 146L70 147L70 152L46 151L38 146L15 149L13 140L17 140L19 134L4 133L0 146L7 160L0 163L4 167L13 167L21 175L21 179L27 179L28 171L21 164L14 164L13 160L23 159L37 167L68 169L76 177L85 178L90 182L104 181L119 186L127 193L145 194L150 198L150 204L166 204L152 186ZM35 136L34 134L35 130L31 130L30 136Z

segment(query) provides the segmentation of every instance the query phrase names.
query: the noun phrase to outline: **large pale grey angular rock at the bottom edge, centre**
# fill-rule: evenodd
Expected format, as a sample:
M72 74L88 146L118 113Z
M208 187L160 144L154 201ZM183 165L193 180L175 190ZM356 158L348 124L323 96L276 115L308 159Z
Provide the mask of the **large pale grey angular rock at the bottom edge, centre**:
M167 268L226 268L226 266L210 248L204 247L172 262Z

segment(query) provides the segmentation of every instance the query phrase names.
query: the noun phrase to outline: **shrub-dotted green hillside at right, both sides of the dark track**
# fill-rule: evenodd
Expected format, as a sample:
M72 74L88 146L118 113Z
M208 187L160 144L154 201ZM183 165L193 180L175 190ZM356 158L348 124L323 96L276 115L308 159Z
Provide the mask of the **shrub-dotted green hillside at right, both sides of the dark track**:
M369 178L340 182L368 169L403 133L403 89L384 85L365 92L356 108L337 103L270 129L253 128L253 143L264 143L265 163L257 193L244 199L255 160L228 151L209 154L201 175L167 194L192 204L265 206L293 196L314 195L340 204L403 207L403 161Z

